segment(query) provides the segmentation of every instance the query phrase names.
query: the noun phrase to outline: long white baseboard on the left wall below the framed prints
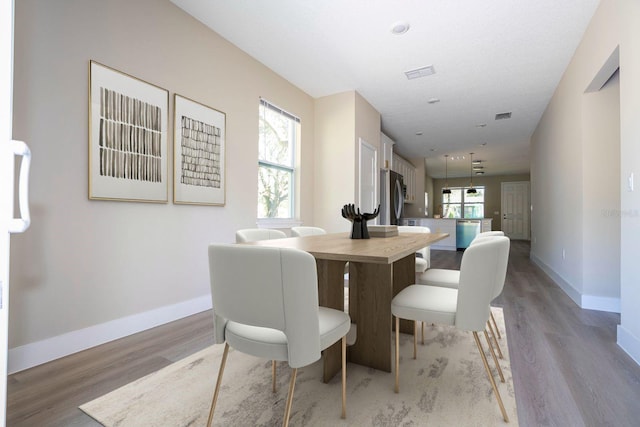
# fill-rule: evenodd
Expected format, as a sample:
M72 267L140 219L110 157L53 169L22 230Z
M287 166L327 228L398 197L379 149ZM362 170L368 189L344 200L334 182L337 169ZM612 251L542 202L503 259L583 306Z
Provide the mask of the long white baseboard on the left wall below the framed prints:
M15 347L9 350L8 372L13 374L210 308L211 297L205 295Z

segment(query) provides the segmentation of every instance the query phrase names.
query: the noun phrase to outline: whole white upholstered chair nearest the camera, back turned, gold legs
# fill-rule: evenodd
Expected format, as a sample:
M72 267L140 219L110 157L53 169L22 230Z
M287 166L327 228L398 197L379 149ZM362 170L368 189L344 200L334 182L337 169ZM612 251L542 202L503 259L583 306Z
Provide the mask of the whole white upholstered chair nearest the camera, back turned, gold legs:
M247 268L247 264L253 268ZM346 416L346 313L318 306L315 258L304 251L250 245L209 246L214 342L225 344L208 425L215 411L229 347L291 368L283 425L291 414L297 369L342 340L342 418Z

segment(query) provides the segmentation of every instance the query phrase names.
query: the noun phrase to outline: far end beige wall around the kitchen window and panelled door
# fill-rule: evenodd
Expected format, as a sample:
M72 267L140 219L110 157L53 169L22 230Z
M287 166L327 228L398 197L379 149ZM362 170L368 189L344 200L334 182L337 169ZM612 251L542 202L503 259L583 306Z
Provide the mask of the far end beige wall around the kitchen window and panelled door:
M442 212L442 188L444 187L444 179L433 180L433 193L434 202L433 209L431 209L431 215L441 214ZM493 230L500 230L501 226L501 204L502 204L502 183L503 182L517 182L517 181L529 181L529 175L498 175L498 176L483 176L473 177L473 185L483 185L485 187L484 193L484 217L491 218L491 228ZM469 178L449 178L449 187L467 187L469 186ZM498 212L497 214L495 212Z

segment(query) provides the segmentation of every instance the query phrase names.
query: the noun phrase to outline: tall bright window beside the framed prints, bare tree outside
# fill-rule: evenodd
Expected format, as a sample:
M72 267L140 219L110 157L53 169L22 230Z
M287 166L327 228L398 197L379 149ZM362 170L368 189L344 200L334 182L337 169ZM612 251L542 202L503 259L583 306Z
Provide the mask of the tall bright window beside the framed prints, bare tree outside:
M300 119L260 100L258 218L295 216L295 148Z

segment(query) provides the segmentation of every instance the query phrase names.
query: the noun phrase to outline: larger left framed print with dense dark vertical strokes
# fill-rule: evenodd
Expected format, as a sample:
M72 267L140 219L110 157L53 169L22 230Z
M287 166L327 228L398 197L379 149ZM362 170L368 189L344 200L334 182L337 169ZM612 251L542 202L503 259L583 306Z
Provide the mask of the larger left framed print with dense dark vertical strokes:
M89 198L166 203L169 92L89 63Z

